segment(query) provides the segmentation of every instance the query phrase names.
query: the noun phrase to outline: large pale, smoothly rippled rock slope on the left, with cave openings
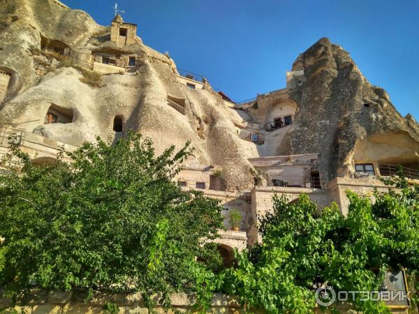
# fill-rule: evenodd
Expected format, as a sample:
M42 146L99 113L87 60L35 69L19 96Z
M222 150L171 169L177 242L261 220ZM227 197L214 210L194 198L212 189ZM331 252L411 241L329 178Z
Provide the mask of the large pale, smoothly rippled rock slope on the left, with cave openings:
M0 124L78 145L96 135L114 137L112 121L124 117L125 130L151 137L159 153L170 144L192 141L195 162L221 165L227 183L251 182L251 165L233 122L242 121L228 109L209 84L189 89L180 84L175 63L142 44L117 46L110 27L101 27L80 10L55 0L4 1L0 8L0 70L12 74L0 107ZM101 87L80 79L80 70L63 66L41 51L43 40L60 43L73 57L87 60L92 52L129 52L137 56L135 73L103 75ZM58 57L58 56L57 56ZM166 104L168 95L184 99L186 115ZM51 104L73 110L69 124L44 124ZM113 140L113 138L112 138Z

